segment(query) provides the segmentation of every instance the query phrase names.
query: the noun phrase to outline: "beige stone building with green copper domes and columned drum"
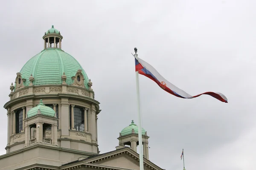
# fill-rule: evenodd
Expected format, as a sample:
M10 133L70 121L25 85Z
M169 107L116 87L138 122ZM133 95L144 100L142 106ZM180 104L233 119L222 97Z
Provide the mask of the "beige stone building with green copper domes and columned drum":
M119 146L99 153L99 102L81 65L61 49L63 37L52 26L44 50L29 59L10 86L6 154L0 170L139 170L138 127L119 133ZM145 170L162 170L149 161L143 129Z

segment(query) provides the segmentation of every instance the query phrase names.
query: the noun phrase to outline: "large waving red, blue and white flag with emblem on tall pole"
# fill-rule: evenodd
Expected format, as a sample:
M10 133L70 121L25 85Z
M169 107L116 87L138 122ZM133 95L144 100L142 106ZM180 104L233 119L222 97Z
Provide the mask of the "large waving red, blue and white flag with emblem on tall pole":
M150 64L137 57L137 54L135 55L135 70L138 71L139 74L156 82L160 88L163 88L163 90L167 91L168 93L184 99L192 99L202 95L198 94L196 96L191 96L190 94L187 94L185 91L177 88L175 85L164 79ZM220 100L221 102L227 103L227 97L221 93L205 92L203 94L208 94Z

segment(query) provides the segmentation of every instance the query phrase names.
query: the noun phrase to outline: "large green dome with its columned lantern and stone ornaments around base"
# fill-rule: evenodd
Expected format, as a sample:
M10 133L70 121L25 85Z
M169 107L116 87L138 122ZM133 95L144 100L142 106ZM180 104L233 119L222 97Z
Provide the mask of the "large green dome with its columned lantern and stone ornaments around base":
M44 50L29 59L17 73L15 90L33 85L79 85L88 89L89 79L79 62L61 50L62 36L52 26L44 35Z

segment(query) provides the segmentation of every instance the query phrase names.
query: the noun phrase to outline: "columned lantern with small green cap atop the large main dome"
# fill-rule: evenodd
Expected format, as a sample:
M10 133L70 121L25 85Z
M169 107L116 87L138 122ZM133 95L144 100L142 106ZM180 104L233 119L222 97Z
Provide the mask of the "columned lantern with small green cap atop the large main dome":
M61 48L61 40L63 37L61 36L61 32L54 28L52 28L44 32L44 49L46 48Z

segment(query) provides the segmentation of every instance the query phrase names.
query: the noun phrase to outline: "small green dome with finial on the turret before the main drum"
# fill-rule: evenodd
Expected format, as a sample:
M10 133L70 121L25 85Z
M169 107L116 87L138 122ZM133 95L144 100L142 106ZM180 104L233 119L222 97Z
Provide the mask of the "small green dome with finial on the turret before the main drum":
M51 117L55 116L55 111L52 108L44 105L42 100L40 100L40 103L36 107L28 111L27 117L29 118L29 117L35 116L36 114L38 114L38 112L40 112L44 116L51 116Z

